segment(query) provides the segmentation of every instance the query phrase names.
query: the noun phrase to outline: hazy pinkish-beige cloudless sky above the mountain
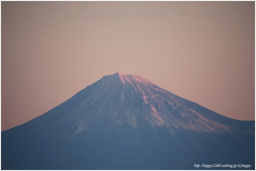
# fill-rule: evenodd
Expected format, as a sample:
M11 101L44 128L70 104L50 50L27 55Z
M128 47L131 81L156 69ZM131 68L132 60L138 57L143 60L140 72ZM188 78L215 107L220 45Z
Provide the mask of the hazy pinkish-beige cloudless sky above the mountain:
M1 2L1 131L105 75L255 120L255 2Z

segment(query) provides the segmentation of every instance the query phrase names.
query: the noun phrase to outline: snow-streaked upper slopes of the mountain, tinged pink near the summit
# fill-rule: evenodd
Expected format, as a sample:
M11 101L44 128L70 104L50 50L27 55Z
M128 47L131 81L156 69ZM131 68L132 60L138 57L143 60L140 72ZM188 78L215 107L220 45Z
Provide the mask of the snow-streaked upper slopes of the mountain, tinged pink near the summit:
M172 129L218 132L225 134L233 128L207 119L180 101L180 97L164 90L138 75L113 74L93 84L90 96L68 114L76 120L75 134L88 129L88 123L108 116L108 123L124 124L134 128L137 120L148 120L152 126ZM104 118L105 119L105 118Z

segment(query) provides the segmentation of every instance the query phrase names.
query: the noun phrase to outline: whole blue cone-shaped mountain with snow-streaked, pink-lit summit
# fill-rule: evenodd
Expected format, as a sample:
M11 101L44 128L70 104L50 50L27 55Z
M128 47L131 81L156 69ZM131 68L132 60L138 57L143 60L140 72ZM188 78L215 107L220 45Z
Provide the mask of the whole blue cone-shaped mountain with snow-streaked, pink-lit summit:
M1 138L1 169L255 169L255 121L222 116L137 75L104 76Z

